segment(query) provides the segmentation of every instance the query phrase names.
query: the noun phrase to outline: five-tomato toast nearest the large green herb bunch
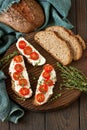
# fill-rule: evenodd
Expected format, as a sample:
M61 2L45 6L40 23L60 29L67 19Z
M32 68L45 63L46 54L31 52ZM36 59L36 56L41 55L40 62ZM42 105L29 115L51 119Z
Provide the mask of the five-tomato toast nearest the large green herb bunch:
M52 65L46 64L38 79L34 105L39 106L46 103L53 94L53 88L56 82L56 72Z

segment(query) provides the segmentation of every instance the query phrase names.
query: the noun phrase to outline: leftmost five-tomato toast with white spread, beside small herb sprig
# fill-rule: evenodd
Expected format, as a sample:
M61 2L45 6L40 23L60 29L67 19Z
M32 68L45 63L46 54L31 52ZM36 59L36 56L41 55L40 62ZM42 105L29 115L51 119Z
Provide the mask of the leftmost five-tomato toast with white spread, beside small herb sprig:
M22 98L32 96L32 90L24 59L21 55L15 56L9 66L13 91Z

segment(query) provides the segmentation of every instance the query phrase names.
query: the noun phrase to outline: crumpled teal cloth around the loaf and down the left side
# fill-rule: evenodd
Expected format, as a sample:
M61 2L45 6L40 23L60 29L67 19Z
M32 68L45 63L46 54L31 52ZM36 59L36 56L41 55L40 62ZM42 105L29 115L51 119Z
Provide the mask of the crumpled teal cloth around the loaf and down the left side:
M6 11L13 3L20 0L0 0L0 12ZM67 20L67 15L71 7L71 0L37 0L45 13L45 23L39 30L51 25L61 25L66 28L73 28L73 25ZM16 32L9 26L0 23L0 54L3 54L11 44L22 34ZM24 115L20 106L13 103L6 92L6 76L0 71L0 120L17 123Z

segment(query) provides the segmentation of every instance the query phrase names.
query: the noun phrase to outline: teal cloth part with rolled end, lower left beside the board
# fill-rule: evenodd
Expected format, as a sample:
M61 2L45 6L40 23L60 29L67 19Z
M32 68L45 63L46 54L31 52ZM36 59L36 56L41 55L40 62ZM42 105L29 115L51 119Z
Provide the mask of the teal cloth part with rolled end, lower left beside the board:
M6 91L5 79L6 76L0 71L0 120L8 120L17 123L24 115L24 110L9 99Z

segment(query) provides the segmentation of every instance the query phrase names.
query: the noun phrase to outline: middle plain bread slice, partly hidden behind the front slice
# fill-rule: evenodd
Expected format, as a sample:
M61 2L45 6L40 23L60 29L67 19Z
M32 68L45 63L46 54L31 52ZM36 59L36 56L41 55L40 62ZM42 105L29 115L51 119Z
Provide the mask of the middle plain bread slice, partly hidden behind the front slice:
M82 46L79 43L79 40L73 35L72 31L61 27L61 26L51 26L46 29L46 31L54 31L63 38L71 46L74 54L74 60L78 60L82 56Z

